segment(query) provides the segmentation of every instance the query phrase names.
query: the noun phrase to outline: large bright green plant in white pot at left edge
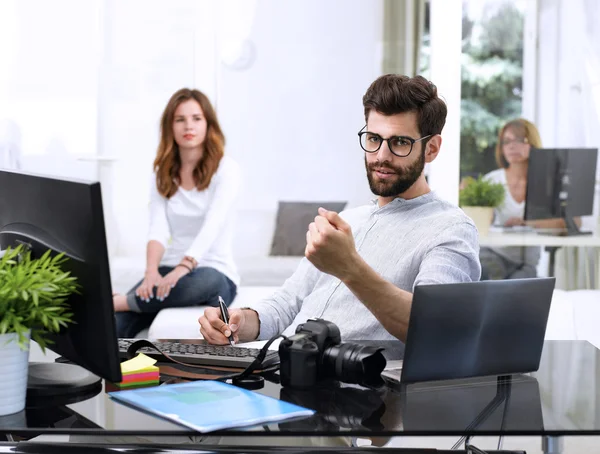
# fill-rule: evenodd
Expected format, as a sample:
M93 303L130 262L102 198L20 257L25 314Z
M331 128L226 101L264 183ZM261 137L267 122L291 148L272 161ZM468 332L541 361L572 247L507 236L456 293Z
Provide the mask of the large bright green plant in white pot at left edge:
M68 299L80 286L61 269L67 260L50 250L33 259L22 245L0 258L0 416L25 408L30 339L45 351L48 334L73 322Z

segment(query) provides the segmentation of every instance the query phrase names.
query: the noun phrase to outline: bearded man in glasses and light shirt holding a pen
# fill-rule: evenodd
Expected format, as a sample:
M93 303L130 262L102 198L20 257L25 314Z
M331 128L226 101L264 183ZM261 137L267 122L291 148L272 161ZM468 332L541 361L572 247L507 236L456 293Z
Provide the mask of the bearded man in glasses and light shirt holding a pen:
M446 121L437 88L389 74L371 84L363 105L358 136L377 199L340 214L319 209L296 272L270 298L232 309L229 324L206 309L199 323L207 341L291 335L316 317L338 325L342 339L405 341L416 285L479 280L473 222L433 193L423 173Z

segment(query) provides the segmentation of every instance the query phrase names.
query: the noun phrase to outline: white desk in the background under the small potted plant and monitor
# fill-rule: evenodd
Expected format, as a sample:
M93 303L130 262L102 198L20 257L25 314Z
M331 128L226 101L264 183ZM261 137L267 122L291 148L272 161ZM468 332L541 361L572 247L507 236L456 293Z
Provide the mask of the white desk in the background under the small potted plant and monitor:
M594 249L594 260L596 270L600 264L600 236L599 235L581 235L581 236L552 236L542 235L534 232L526 233L504 233L491 231L487 235L479 236L479 245L487 247L505 247L505 246L540 246L545 248L550 254L548 262L548 276L555 274L556 251L561 247L586 247ZM590 266L586 261L585 272L589 282ZM600 282L600 270L598 270L598 281Z

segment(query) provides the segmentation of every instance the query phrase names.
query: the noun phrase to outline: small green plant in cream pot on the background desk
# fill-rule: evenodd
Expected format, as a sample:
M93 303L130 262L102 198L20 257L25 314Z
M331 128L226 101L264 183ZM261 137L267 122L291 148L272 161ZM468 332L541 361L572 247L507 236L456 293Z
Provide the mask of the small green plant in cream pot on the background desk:
M487 235L494 219L494 208L504 201L504 186L479 176L477 179L466 178L461 187L460 207L473 219L479 234Z

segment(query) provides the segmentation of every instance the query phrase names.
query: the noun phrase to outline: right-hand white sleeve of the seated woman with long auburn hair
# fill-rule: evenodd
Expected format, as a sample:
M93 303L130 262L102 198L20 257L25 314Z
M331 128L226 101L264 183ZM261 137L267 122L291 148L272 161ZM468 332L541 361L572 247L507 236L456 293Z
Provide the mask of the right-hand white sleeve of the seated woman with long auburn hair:
M239 193L241 178L241 171L237 163L232 159L223 158L219 170L211 181L211 186L214 184L215 187L204 224L185 255L200 261L210 249L223 225L229 219Z

